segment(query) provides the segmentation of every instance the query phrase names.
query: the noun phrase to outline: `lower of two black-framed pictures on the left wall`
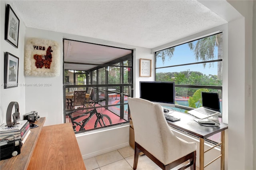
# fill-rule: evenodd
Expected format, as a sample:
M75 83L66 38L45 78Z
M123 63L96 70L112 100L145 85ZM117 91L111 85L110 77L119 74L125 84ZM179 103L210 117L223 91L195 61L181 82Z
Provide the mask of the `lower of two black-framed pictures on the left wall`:
M4 58L4 89L18 87L19 58L6 52Z

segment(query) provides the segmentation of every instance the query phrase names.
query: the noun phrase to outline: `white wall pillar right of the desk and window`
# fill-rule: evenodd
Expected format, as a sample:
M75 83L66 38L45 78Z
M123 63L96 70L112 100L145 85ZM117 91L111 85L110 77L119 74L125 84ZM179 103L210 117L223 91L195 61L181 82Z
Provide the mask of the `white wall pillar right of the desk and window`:
M253 169L252 136L252 6L253 1L230 1L243 17L229 23L228 103L230 169ZM255 30L254 30L255 31ZM238 79L239 77L239 79ZM250 94L249 94L250 93ZM254 122L255 123L255 122ZM239 146L239 147L237 147ZM234 149L236 148L236 149ZM237 162L240 164L237 164Z

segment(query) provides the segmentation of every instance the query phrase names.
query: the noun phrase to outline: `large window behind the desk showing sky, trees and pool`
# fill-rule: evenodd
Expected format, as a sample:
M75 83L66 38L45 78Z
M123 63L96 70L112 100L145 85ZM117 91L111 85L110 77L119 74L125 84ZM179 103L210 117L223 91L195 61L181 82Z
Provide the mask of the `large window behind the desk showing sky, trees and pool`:
M218 92L222 108L222 33L156 51L155 59L156 81L175 82L175 109L200 107L200 91Z

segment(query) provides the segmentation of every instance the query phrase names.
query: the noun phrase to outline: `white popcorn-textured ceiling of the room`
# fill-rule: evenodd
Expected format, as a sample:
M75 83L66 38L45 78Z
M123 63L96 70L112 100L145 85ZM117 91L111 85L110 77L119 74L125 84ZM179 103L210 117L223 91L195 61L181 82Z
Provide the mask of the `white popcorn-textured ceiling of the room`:
M9 2L26 27L147 48L226 23L195 0Z

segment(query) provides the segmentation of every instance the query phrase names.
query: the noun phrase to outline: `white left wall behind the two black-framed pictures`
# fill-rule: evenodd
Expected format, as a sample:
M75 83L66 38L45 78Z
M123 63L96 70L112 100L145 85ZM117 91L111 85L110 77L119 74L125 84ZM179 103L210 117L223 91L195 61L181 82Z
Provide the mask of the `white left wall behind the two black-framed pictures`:
M24 77L24 37L26 27L23 22L20 21L20 31L18 48L15 48L6 40L4 40L4 25L5 25L5 8L6 2L0 1L0 124L6 123L6 110L11 101L17 101L19 103L19 111L21 114L25 113L25 87L22 86L25 83ZM14 9L13 9L14 10ZM15 11L15 10L14 10ZM18 18L20 16L16 14ZM19 58L18 68L18 87L4 89L4 53L9 52ZM21 85L20 85L21 84ZM13 109L14 111L14 109Z

